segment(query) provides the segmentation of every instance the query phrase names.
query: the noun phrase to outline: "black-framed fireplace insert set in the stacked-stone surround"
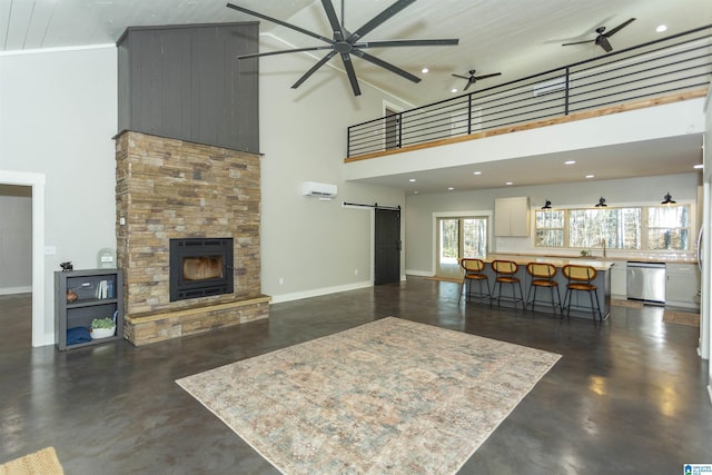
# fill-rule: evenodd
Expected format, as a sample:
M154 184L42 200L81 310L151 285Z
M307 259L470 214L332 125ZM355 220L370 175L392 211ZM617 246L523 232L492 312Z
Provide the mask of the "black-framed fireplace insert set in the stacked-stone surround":
M170 301L231 294L233 238L170 239Z

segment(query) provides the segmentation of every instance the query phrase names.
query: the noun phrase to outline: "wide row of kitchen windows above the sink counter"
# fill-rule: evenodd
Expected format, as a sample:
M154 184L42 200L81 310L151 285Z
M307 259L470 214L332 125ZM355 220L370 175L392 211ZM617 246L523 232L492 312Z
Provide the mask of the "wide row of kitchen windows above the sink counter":
M535 247L690 249L690 205L536 210L535 227Z

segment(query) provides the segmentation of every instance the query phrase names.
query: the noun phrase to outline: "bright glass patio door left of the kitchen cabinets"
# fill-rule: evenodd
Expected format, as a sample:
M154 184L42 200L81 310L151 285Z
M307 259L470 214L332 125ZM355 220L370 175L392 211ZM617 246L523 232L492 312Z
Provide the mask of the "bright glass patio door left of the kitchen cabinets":
M436 218L436 277L461 280L459 259L487 255L488 220L488 216Z

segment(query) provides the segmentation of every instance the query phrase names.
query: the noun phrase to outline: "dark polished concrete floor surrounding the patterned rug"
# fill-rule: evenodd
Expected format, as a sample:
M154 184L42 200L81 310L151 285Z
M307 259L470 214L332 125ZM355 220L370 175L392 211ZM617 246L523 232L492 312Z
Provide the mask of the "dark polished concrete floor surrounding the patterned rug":
M136 348L30 347L30 296L0 297L0 463L46 446L72 474L275 474L175 379L385 316L563 355L462 474L681 474L712 463L708 363L662 308L611 318L457 304L457 284L407 283L271 306L268 321Z

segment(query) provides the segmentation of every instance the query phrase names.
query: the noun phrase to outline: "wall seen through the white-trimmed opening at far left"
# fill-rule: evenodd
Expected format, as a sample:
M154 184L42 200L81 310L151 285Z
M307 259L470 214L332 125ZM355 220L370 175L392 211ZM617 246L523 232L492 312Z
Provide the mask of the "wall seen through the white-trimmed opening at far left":
M0 295L32 289L32 188L0 184Z

